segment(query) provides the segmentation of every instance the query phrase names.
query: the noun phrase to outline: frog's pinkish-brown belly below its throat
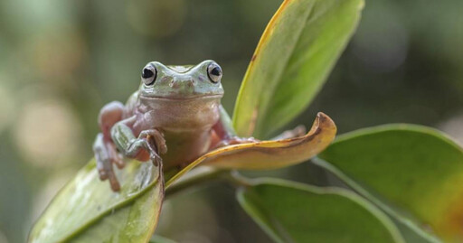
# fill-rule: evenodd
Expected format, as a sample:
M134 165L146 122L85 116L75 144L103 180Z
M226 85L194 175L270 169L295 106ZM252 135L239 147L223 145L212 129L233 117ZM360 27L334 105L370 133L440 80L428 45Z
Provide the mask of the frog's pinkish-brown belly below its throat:
M161 154L164 169L177 165L185 166L194 162L199 156L205 154L211 145L211 130L194 132L168 132L165 131L167 153Z

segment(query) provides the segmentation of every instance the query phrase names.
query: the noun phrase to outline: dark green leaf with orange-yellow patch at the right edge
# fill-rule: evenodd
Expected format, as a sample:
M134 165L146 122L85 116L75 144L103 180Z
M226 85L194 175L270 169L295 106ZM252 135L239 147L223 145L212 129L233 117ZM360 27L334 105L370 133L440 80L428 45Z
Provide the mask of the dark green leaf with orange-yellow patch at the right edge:
M340 136L320 158L398 220L418 220L449 242L463 240L463 150L439 131L412 125L362 129Z

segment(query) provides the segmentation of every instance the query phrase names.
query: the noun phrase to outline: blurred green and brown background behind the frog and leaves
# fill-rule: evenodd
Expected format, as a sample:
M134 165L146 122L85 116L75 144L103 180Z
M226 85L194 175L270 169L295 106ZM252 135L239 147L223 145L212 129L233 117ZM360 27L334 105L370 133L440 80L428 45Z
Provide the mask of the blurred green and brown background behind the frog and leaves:
M231 112L280 2L0 1L0 243L24 242L92 156L99 108L125 101L146 62L217 61ZM463 139L462 9L460 0L367 1L325 88L289 126L309 126L324 111L340 133L407 122ZM308 164L259 174L318 175ZM174 195L156 232L180 242L268 242L233 198L226 185Z

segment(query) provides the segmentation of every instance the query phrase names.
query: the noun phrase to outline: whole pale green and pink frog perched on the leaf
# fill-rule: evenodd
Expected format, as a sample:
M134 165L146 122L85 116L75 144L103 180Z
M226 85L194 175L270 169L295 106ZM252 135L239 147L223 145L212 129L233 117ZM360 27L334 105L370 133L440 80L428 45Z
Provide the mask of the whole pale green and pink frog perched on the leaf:
M100 133L93 144L99 179L118 192L114 167L123 169L125 158L161 164L167 171L222 146L258 142L236 135L223 95L222 67L215 61L184 66L148 62L126 104L112 101L99 111ZM287 131L284 137L304 132Z

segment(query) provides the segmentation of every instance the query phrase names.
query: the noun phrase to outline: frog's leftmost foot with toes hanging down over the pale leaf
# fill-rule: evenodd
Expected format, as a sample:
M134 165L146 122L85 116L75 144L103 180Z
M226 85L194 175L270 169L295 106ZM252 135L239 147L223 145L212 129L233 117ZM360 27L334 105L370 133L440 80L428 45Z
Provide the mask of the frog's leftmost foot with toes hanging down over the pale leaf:
M109 180L112 191L118 192L120 184L114 173L113 164L116 164L118 168L123 168L125 164L116 147L110 142L105 143L103 134L99 134L93 144L93 152L97 161L99 179L101 181Z

